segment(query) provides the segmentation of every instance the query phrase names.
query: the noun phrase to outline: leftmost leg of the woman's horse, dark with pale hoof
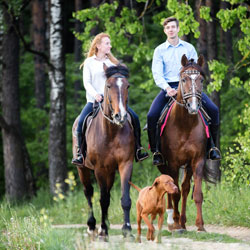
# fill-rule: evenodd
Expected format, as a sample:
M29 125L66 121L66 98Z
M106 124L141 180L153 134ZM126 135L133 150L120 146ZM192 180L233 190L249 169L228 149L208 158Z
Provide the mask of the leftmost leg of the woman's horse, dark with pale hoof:
M95 236L95 230L96 230L96 219L94 217L93 213L93 204L92 204L92 197L94 194L94 188L91 183L91 170L84 167L77 167L78 174L80 177L80 181L83 185L83 191L85 194L85 197L88 201L88 206L89 206L89 216L88 216L88 233L90 236L94 237Z

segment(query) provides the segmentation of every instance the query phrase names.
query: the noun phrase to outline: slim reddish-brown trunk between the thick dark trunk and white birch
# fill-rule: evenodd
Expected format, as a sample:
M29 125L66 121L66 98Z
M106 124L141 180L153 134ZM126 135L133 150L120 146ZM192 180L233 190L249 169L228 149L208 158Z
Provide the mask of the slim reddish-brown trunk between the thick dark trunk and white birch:
M45 53L45 1L34 0L32 3L33 43L36 51ZM46 73L44 59L34 55L35 60L35 97L38 108L46 104Z

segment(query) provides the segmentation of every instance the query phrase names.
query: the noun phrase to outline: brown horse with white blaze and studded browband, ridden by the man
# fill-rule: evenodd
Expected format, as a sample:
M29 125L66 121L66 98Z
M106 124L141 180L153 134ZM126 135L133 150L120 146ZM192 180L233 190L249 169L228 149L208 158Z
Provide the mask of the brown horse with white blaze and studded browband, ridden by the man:
M199 109L203 81L202 70L204 59L200 56L197 64L182 56L182 69L177 90L177 98L161 137L161 148L168 164L158 166L163 174L168 174L178 186L179 169L184 166L184 177L181 190L177 194L168 194L168 226L169 229L186 229L186 203L193 176L193 199L197 208L196 226L198 231L205 231L202 218L202 179L206 177L206 145L207 136ZM181 214L178 203L182 198Z

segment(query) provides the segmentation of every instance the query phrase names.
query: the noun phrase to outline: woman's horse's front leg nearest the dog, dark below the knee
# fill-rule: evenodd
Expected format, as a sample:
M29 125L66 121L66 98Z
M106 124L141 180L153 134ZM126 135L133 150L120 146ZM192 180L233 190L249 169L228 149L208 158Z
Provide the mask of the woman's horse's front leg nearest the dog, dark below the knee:
M131 237L132 228L130 224L130 209L131 209L131 199L130 199L130 185L128 181L131 180L132 175L132 163L129 164L120 164L119 173L121 178L121 206L123 209L124 215L124 224L122 226L122 233L124 237Z

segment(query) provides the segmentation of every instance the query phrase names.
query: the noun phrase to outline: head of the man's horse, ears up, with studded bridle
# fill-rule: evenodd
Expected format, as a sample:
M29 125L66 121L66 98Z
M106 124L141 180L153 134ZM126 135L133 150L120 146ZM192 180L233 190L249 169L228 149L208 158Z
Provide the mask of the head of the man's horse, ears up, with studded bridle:
M202 70L204 57L199 56L197 63L194 59L188 60L184 54L181 58L180 92L182 101L189 114L195 115L201 106L201 94L205 74Z

